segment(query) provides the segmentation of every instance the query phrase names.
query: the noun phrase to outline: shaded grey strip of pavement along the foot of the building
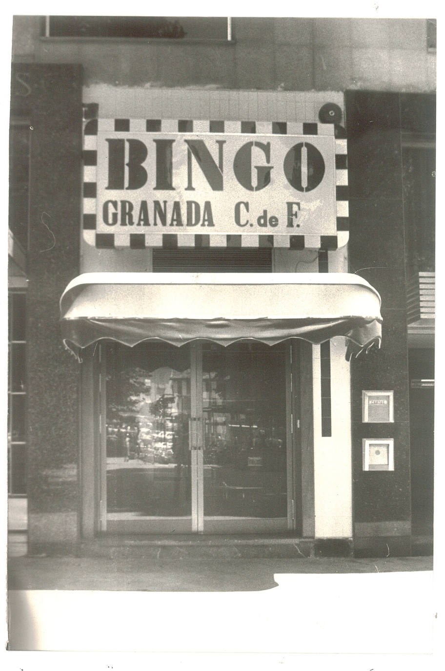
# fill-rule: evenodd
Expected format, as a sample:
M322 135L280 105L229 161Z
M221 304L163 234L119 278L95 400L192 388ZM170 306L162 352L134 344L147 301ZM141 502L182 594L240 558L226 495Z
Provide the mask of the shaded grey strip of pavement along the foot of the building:
M431 571L433 558L169 558L27 556L9 535L9 590L251 592L277 586L275 574Z

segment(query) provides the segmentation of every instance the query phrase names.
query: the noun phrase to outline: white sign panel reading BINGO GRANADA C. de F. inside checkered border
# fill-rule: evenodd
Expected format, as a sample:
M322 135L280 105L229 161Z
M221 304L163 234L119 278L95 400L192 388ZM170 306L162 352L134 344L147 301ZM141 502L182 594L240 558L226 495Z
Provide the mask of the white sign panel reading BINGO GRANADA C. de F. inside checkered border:
M160 234L186 241L196 234L300 236L303 248L320 246L320 236L337 236L338 148L329 130L325 136L99 130L86 221L94 221L95 235L113 234L113 246L128 246L131 234L143 234L145 246ZM311 238L318 244L308 244Z

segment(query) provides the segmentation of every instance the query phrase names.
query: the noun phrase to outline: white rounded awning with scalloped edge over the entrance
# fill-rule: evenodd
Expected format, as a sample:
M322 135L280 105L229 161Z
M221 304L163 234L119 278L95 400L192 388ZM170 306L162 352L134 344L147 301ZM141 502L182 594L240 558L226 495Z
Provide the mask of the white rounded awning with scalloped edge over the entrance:
M357 353L380 346L380 303L366 280L348 273L92 272L69 283L60 313L64 344L76 356L103 339L273 345L336 335Z

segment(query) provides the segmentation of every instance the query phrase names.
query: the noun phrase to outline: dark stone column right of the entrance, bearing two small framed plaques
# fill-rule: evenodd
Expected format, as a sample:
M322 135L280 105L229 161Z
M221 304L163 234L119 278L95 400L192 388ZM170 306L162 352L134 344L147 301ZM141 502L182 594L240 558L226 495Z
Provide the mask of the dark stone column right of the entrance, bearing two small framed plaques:
M382 348L351 363L355 554L409 554L411 494L398 93L346 93L349 268L382 299ZM362 423L362 390L394 391L394 423ZM363 438L394 439L393 472L362 470Z

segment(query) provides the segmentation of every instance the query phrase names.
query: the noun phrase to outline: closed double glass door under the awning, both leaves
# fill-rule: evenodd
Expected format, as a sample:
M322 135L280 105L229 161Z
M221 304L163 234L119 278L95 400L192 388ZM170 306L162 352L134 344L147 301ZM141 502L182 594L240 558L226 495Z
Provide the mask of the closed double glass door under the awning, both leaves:
M288 349L108 344L103 529L292 528Z

